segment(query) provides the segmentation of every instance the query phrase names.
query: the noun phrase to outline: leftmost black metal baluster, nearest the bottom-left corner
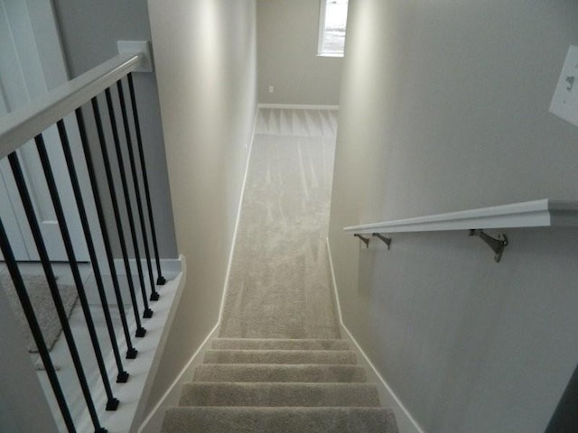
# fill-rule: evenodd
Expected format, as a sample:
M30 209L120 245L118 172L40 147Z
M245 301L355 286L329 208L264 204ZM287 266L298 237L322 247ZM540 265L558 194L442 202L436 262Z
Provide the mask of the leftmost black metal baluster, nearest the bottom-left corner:
M52 391L54 392L54 396L56 397L58 407L61 410L62 419L64 419L64 424L66 425L66 428L68 428L68 431L70 433L76 432L74 422L72 421L72 417L70 416L68 404L66 403L66 399L64 398L64 394L62 392L61 383L59 382L58 376L56 375L54 364L52 364L51 355L49 354L48 347L44 342L44 337L42 336L40 325L38 324L38 320L36 320L33 305L30 302L30 298L28 297L28 293L26 291L26 287L24 286L22 275L20 274L20 270L18 269L18 263L16 263L14 252L12 251L12 247L10 246L10 242L8 240L8 236L6 235L4 224L2 224L2 220L0 220L0 250L2 250L2 253L4 254L4 260L6 266L8 267L8 272L10 272L10 276L12 277L12 281L14 282L14 289L16 290L18 298L20 299L20 304L22 305L24 316L28 321L28 326L30 327L30 330L33 333L34 342L36 343L38 353L42 358L42 363L44 364L44 368L46 369L48 380L51 382Z

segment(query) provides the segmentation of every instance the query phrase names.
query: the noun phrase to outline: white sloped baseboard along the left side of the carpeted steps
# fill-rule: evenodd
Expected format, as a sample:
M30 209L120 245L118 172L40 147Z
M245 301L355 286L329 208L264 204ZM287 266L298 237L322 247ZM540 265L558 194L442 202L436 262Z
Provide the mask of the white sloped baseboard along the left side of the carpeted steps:
M156 403L153 410L144 419L141 426L136 430L137 433L158 433L163 426L164 412L174 406L179 405L181 399L182 385L185 382L191 382L194 369L197 365L202 363L205 352L210 347L210 342L216 336L219 329L219 323L212 328L209 335L200 344L194 355L191 356L189 362L184 366L181 373L172 382L169 389L164 392L161 400Z

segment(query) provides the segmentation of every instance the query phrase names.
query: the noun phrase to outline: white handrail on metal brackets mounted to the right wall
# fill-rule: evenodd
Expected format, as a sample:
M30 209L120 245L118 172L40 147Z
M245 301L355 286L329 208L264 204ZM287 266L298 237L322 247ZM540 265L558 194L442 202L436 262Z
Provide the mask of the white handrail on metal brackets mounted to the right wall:
M578 201L544 198L427 217L396 219L375 224L349 226L343 230L352 235L363 235L550 226L578 226Z

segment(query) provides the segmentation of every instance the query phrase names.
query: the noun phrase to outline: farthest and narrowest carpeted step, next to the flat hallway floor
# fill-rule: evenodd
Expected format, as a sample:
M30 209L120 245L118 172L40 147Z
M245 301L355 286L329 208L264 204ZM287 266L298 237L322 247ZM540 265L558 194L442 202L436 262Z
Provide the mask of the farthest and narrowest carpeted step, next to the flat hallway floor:
M213 349L247 350L349 350L345 340L215 338Z

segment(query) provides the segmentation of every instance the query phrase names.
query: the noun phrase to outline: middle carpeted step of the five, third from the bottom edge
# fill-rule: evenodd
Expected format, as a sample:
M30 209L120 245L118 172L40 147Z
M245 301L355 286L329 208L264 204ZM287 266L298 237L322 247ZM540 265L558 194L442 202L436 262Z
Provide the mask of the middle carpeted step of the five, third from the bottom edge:
M201 364L193 382L365 382L365 370L334 364Z

